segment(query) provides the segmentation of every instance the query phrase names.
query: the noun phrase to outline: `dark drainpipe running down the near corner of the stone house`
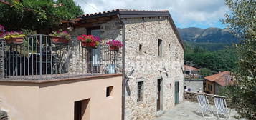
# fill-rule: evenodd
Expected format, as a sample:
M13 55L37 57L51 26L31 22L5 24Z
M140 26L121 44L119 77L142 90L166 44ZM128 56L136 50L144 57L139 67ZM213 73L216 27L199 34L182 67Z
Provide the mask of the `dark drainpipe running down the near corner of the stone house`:
M120 20L122 24L122 42L123 42L123 79L122 79L122 120L125 119L125 23L120 18L120 14L117 15L118 19Z

